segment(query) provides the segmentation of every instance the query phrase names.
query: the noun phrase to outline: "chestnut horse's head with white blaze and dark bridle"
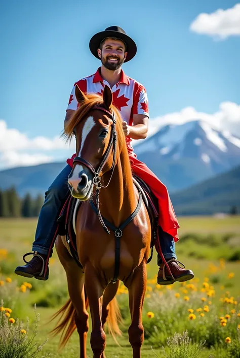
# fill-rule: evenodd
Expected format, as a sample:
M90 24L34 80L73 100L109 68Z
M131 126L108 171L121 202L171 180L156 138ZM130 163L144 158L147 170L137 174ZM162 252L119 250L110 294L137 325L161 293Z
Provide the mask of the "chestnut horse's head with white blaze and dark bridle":
M93 185L100 188L100 175L114 169L116 156L115 115L111 107L112 92L104 87L99 95L85 95L77 86L77 102L81 105L65 128L76 137L76 158L68 177L68 186L73 197L88 200Z

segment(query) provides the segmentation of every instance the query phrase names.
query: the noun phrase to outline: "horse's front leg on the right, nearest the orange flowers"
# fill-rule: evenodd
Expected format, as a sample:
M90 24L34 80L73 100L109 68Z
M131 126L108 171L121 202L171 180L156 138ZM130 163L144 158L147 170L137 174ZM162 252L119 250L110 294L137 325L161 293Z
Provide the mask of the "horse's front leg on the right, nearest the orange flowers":
M133 348L133 358L141 357L141 346L144 339L142 306L146 292L146 283L146 263L143 261L135 270L131 282L126 282L126 286L129 290L129 308L132 320L128 333L129 342Z

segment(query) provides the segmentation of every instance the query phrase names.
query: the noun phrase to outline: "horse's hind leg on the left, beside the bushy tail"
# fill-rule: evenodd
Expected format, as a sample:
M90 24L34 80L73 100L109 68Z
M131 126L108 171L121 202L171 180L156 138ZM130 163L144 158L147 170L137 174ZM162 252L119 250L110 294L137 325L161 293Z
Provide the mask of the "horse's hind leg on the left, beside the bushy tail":
M80 358L87 358L87 335L89 330L89 314L86 310L84 274L69 254L60 237L56 240L56 250L67 275L70 299L76 310L75 324L80 340Z

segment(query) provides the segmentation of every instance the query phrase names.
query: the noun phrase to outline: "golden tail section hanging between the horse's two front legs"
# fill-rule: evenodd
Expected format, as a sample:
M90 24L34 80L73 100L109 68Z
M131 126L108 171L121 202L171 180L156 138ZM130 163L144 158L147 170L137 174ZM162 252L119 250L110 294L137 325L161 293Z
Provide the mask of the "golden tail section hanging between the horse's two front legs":
M114 299L109 303L109 312L107 316L107 326L109 333L111 334L112 338L114 339L115 343L119 346L119 343L116 340L116 335L122 336L122 332L118 327L118 324L122 323L122 315L119 310L117 300Z

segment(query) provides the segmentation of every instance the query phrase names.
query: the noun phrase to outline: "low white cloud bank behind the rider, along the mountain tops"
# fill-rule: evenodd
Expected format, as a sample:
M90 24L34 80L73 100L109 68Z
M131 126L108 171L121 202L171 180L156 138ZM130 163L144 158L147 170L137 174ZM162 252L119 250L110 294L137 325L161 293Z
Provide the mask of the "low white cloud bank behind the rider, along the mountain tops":
M216 129L225 131L225 134L230 132L240 138L240 105L233 102L222 102L219 110L213 114L197 112L193 107L185 107L180 112L150 118L148 136L164 125L183 124L192 120L205 120ZM141 141L133 141L133 144L139 144ZM0 169L51 162L56 160L56 155L58 161L64 161L69 153L75 152L74 142L72 141L69 150L69 144L65 144L58 137L30 139L18 129L8 128L6 122L0 120ZM45 154L46 152L48 154Z

